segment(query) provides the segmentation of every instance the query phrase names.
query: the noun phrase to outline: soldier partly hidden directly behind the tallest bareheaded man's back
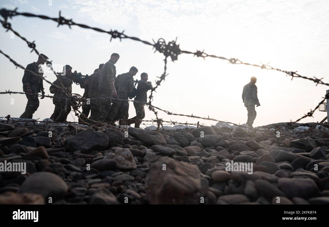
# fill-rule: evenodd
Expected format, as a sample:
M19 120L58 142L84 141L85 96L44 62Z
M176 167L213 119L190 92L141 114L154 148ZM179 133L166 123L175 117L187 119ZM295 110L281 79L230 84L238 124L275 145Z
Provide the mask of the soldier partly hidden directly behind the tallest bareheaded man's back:
M98 69L95 69L94 73L89 77L89 92L88 96L90 99L90 120L97 121L98 113L99 113L99 106L100 106L100 92L98 89L98 81L101 69L104 64L100 64Z

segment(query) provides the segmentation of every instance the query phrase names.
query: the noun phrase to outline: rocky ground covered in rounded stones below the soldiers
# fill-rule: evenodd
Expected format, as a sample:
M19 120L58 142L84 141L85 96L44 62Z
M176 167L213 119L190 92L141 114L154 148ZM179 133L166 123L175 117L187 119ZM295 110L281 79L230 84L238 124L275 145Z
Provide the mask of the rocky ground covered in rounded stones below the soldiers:
M329 131L0 123L0 204L329 204ZM272 132L272 133L270 133ZM253 163L253 172L226 163ZM51 197L51 198L50 198Z

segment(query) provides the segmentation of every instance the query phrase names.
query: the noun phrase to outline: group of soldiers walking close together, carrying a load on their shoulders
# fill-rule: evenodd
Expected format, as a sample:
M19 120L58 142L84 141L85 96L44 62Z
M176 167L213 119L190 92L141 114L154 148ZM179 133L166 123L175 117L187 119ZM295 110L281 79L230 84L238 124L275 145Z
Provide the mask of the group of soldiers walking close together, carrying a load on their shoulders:
M134 93L133 77L138 73L138 69L133 66L129 72L116 76L115 63L119 60L119 57L117 53L113 53L109 61L100 64L93 74L80 84L80 87L85 89L83 95L85 101L82 105L79 122L109 122L114 125L113 122L119 120L120 125L135 123L135 127L139 128L141 120L145 117L144 103L147 102L147 91L153 89L152 83L147 81L147 73L141 73L140 80L136 81L138 82L136 94L132 95ZM38 93L41 92L41 99L44 98L41 65L45 59L48 59L48 57L40 54L38 61L28 64L24 71L23 91L28 102L20 118L33 117L39 106ZM76 80L75 76L76 74L72 73L72 67L65 65L63 72L49 88L50 93L54 94L53 103L55 105L54 113L50 119L56 122L65 122L71 111L69 94L72 94L72 84ZM128 119L129 98L135 95L136 116ZM89 112L90 117L88 118Z

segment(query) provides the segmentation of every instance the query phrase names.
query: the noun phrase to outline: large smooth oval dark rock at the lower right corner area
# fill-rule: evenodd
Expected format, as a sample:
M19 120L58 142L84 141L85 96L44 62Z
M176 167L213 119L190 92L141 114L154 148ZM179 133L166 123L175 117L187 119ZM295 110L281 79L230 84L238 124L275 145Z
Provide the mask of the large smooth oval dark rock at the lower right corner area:
M309 198L317 195L319 189L312 179L280 178L279 187L288 198Z

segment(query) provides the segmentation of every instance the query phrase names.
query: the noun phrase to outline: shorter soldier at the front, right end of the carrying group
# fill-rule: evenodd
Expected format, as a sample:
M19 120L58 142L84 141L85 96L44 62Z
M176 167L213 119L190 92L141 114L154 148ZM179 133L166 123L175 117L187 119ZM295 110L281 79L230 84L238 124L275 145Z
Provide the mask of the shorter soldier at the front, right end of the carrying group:
M147 91L152 89L152 83L148 80L147 73L140 74L140 80L138 81L137 86L137 95L134 101L134 106L136 110L136 116L132 118L132 120L135 120L135 128L139 128L139 125L141 123L141 120L145 117L145 110L144 110L144 104L139 102L147 102Z

